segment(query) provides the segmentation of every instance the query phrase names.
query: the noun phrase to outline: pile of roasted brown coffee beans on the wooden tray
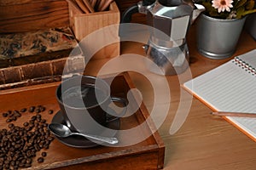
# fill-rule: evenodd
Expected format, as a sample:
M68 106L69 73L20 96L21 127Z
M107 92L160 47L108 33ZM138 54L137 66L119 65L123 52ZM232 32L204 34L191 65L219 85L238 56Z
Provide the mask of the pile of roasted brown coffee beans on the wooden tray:
M37 161L44 162L47 156L45 150L49 148L54 137L49 132L43 112L46 112L46 108L38 105L2 114L8 127L0 129L0 170L32 167L37 152L41 152ZM32 116L22 126L16 126L15 122L23 114ZM48 114L53 114L53 111L49 110Z

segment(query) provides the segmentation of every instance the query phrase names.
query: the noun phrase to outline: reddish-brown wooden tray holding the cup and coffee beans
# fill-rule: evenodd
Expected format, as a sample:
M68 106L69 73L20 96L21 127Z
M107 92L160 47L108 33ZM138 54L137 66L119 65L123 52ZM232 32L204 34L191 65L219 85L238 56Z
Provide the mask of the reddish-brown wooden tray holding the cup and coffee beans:
M51 122L53 116L59 111L55 99L55 88L60 82L41 84L29 88L15 88L0 92L0 128L8 128L8 123L3 119L2 113L9 110L18 110L32 105L44 105L46 111L42 116ZM114 78L111 85L112 94L126 97L129 89L135 88L128 73ZM133 96L133 99L136 99ZM53 110L50 115L47 111ZM25 112L14 123L21 126L32 116L32 113ZM148 111L142 103L139 110L131 116L120 119L120 129L130 129L145 122ZM149 121L148 121L149 120ZM137 131L137 135L154 132L154 123L147 119L147 126ZM120 142L129 139L129 136L122 136L117 133ZM155 132L143 142L127 147L96 146L93 148L79 149L61 144L54 139L45 150L47 156L43 163L38 163L37 156L33 158L32 167L26 169L160 169L164 166L165 146L160 139L159 133Z

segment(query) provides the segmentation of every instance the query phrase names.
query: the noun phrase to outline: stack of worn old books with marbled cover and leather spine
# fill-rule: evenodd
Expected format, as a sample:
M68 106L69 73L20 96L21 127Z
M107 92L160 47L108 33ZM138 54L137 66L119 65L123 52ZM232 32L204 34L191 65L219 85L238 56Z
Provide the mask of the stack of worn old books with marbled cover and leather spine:
M0 89L60 81L84 65L69 27L0 34Z

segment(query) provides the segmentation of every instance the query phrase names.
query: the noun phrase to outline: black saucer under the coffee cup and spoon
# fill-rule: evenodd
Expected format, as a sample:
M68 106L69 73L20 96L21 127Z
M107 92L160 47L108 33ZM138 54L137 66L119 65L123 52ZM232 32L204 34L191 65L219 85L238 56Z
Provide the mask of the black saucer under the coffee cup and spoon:
M55 114L55 116L53 117L51 122L56 122L56 123L61 123L61 124L67 125L62 114L61 114L61 111L58 111ZM114 137L120 127L119 119L115 119L111 122L108 122L106 127L113 129L113 130L109 131L108 129L106 129L97 135L100 135L100 136L102 135L105 137ZM98 141L93 142L90 139L86 139L79 135L72 135L67 138L60 138L60 137L55 136L55 138L58 139L62 144L66 144L68 146L75 147L75 148L91 148L91 147L95 147L97 145L103 144L103 142L102 143L98 142Z

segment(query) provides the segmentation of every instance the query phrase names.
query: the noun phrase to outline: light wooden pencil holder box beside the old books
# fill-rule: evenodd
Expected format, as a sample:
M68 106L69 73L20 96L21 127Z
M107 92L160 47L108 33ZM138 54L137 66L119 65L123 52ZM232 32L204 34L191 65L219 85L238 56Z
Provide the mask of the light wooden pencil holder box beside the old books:
M88 36L94 31L101 31L102 28L107 26L114 26L110 31L105 31L97 34L97 36L89 37L86 41L80 42L80 46L86 54L86 51L91 51L96 48L95 46L100 42L108 42L111 38L115 42L102 46L103 48L96 49L93 59L106 59L119 56L120 44L119 44L119 24L120 14L119 8L115 2L111 3L108 11L95 12L90 14L81 14L73 5L69 4L69 18L70 26L73 29L73 33L77 40L80 42L84 37ZM98 38L97 38L98 37ZM91 49L93 48L93 49Z

